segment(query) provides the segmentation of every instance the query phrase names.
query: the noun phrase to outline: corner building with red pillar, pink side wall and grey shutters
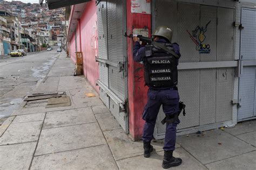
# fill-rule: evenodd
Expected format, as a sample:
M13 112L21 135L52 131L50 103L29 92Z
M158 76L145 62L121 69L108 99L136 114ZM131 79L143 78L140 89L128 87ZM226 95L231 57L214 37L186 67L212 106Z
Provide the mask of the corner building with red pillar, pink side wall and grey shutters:
M178 88L187 115L180 117L178 133L232 126L242 120L237 107L240 75L236 71L241 39L238 21L246 14L241 8L252 9L255 4L108 0L73 5L67 36L70 58L76 62L75 52L83 52L85 77L125 132L140 139L147 87L143 64L133 61L133 41L124 34L150 37L157 26L167 25L182 55ZM195 39L192 34L204 39ZM154 132L157 139L164 138L163 118L160 109Z

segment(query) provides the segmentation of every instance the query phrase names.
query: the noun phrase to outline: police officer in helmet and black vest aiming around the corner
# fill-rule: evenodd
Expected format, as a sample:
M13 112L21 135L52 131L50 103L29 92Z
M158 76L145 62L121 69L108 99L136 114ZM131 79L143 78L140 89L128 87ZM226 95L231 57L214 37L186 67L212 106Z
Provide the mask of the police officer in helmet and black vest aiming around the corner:
M171 43L172 30L169 27L158 27L152 36L153 41L171 49L180 57L179 45ZM153 139L154 126L160 106L163 105L167 122L179 111L178 59L158 46L151 46L151 53L148 53L148 47L141 46L137 37L133 37L133 41L133 60L136 62L143 61L145 84L149 87L147 104L142 115L145 121L142 135L144 157L149 158L150 152L153 151L153 146L150 143ZM166 123L163 168L179 166L182 162L180 158L174 158L172 155L176 144L176 128L179 123L179 119L173 123Z

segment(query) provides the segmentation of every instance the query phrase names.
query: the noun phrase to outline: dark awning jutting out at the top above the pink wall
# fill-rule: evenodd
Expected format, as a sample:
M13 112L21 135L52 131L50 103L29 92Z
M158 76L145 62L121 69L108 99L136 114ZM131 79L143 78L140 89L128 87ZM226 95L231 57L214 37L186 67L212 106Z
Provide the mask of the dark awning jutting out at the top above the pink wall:
M90 0L47 0L48 7L50 10L57 9L57 8L63 8L65 6L80 4L84 2L89 2Z

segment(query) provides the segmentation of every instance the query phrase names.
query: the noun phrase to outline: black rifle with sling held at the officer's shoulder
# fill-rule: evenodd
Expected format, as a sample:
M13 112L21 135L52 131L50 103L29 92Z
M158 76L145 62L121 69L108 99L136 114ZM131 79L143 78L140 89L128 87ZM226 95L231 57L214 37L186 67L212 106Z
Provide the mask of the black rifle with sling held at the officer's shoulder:
M175 58L179 59L180 56L178 54L176 54L173 50L167 48L166 46L164 46L163 44L153 41L152 38L149 37L143 37L142 35L137 35L137 34L130 34L127 35L127 33L125 33L124 37L128 37L128 38L133 38L133 37L138 37L140 41L146 43L145 45L153 45L156 47L159 47L161 49L163 49L164 51L172 54Z

